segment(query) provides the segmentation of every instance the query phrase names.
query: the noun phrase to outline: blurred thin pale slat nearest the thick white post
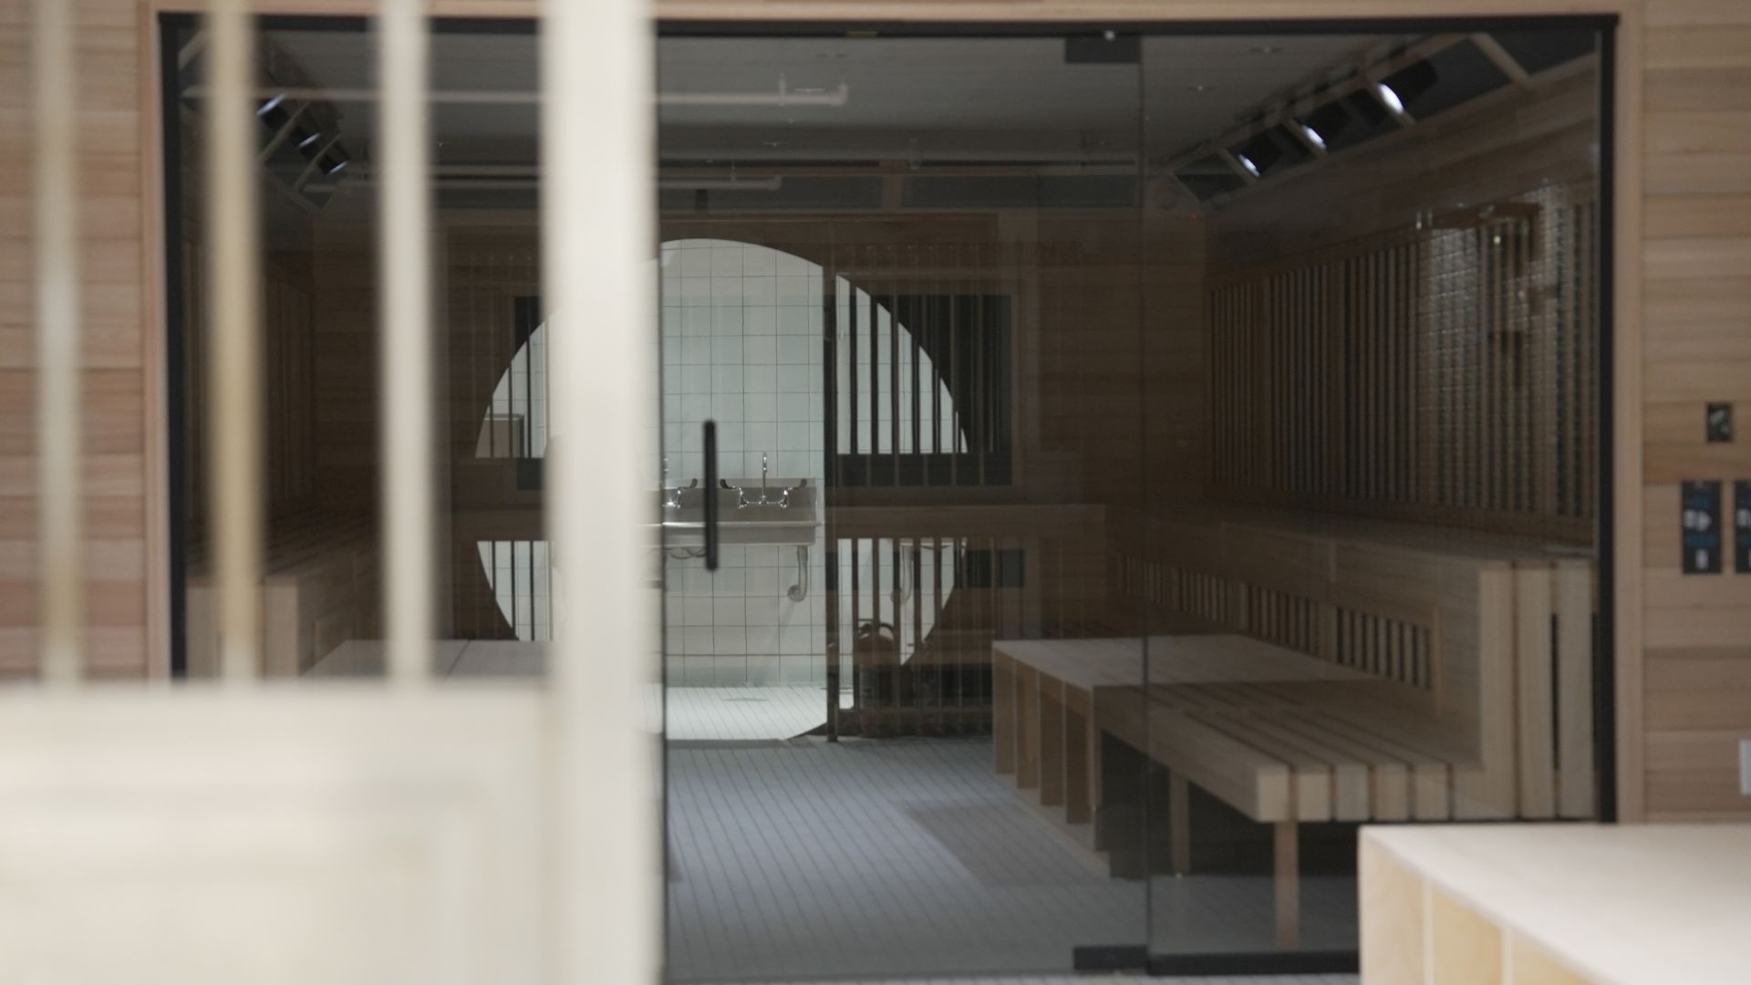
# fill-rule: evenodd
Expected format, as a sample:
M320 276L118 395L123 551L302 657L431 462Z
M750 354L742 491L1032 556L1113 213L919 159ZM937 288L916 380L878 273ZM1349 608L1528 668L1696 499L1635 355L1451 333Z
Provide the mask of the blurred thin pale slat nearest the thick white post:
M383 0L378 39L383 84L383 181L378 182L383 230L378 259L383 326L378 442L383 487L378 508L387 670L392 680L406 684L424 680L431 671L436 570L425 0ZM529 373L524 377L529 379Z

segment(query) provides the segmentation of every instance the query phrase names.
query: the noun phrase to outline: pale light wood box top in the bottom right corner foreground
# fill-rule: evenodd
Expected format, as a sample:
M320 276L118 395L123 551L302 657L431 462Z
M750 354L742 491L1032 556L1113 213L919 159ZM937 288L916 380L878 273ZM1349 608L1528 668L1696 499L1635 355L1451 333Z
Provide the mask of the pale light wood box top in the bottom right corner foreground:
M1362 831L1362 981L1744 981L1744 826Z

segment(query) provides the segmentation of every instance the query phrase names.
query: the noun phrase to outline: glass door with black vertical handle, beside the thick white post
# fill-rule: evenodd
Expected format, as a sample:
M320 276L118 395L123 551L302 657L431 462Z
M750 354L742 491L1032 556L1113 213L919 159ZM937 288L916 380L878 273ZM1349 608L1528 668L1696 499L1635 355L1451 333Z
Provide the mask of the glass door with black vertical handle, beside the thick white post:
M671 37L660 89L671 976L1140 960L1135 39Z

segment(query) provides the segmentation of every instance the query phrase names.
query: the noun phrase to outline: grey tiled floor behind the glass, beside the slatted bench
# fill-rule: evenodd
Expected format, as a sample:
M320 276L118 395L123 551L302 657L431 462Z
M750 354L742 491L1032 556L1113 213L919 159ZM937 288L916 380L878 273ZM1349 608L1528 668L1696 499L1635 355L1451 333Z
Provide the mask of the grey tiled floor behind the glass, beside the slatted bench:
M1051 974L1147 936L1143 885L1023 808L989 740L672 747L669 811L678 981ZM1354 939L1350 880L1304 894L1311 946ZM1157 880L1156 908L1161 950L1271 946L1268 880Z

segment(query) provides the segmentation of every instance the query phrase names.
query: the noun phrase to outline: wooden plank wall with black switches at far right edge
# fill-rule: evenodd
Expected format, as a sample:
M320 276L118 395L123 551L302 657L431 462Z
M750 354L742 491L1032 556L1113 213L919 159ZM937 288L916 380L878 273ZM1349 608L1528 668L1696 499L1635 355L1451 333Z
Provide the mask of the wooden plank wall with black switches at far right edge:
M1702 428L1709 401L1751 421L1751 5L1656 0L1648 23L1646 813L1751 818L1751 575L1681 575L1677 549L1681 480L1751 478L1744 424Z

